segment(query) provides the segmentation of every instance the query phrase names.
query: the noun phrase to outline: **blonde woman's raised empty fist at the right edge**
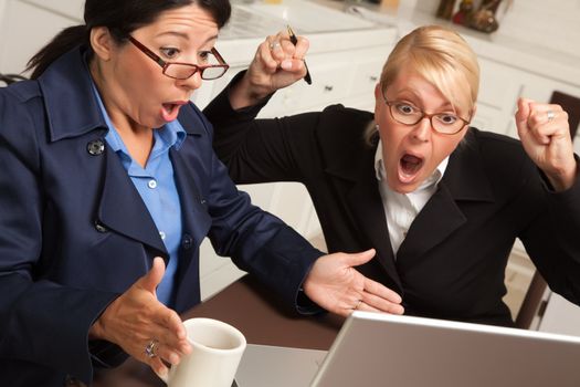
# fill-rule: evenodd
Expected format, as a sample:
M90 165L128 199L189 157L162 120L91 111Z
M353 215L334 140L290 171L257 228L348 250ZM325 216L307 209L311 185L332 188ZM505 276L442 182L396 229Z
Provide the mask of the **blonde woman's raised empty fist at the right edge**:
M568 114L560 105L518 100L516 125L521 145L557 191L570 188L577 166Z

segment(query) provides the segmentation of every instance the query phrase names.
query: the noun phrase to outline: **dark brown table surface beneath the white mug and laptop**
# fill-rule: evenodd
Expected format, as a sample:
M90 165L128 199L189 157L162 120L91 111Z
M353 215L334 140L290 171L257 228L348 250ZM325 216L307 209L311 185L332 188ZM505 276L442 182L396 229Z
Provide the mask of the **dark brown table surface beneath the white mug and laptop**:
M250 344L330 347L344 318L330 314L300 316L280 304L278 299L246 275L182 317L221 320L239 328ZM93 386L162 387L165 384L148 366L129 358L118 368L95 373Z

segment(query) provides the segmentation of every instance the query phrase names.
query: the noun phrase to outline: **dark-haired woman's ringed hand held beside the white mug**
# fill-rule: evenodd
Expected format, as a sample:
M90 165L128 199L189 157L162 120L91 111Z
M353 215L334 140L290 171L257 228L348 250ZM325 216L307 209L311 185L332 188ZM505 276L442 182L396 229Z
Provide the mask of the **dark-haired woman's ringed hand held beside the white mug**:
M159 375L168 372L162 360L176 365L191 352L181 318L157 300L156 287L164 274L164 260L157 257L151 270L113 301L89 331L92 338L117 344ZM149 357L145 348L151 341L156 356Z

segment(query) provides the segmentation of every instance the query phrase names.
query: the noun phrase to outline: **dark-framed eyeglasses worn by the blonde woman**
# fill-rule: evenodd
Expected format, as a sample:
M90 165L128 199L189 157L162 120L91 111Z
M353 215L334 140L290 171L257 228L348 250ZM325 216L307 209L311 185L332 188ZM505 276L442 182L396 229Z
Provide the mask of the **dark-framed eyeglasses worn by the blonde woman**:
M382 95L384 103L389 106L391 117L399 124L412 126L428 117L431 123L431 128L436 133L443 135L454 135L463 130L465 125L470 125L470 121L463 119L460 116L450 113L433 113L426 114L419 107L405 101L388 101ZM471 118L470 118L471 119Z

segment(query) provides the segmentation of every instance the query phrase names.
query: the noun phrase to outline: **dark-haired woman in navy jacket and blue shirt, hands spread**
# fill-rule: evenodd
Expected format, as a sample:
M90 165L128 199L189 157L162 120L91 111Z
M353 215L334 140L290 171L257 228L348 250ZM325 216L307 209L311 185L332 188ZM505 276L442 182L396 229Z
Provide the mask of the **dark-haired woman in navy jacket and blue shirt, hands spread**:
M228 69L214 44L229 15L228 0L87 0L33 80L0 90L1 385L89 384L127 354L167 373L191 351L178 313L200 302L205 236L300 313L309 299L348 314L363 292L402 313L350 270L372 250L324 255L214 156L189 98Z

